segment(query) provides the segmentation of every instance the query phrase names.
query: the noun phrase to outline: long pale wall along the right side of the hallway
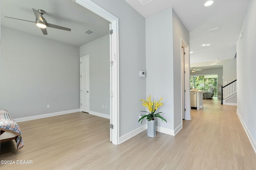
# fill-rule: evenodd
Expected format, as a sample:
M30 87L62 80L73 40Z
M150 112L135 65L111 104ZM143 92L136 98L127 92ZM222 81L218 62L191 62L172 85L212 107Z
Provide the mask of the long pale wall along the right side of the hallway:
M237 112L256 152L255 114L255 47L256 0L251 0L242 25L242 39L236 44L237 60Z

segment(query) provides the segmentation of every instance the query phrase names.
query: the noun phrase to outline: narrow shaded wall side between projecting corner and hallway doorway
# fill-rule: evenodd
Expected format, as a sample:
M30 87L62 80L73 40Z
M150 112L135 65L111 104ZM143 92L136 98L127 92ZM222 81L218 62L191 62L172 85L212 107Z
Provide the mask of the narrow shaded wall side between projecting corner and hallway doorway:
M181 40L182 38L189 45L189 32L180 18L172 9L173 27L173 89L174 94L174 129L182 124L182 88L181 88ZM188 80L189 81L189 80ZM186 101L185 101L186 102ZM190 102L190 101L189 101ZM176 132L175 132L176 133Z

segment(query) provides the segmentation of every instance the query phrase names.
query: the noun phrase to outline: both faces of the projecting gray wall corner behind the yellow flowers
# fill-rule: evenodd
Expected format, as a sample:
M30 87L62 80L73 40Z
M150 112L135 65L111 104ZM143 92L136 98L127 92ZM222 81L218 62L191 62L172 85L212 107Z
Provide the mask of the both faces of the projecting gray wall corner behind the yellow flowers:
M146 18L146 90L154 100L163 96L158 111L168 123L158 119L157 125L172 130L182 123L180 37L189 44L189 32L172 8Z

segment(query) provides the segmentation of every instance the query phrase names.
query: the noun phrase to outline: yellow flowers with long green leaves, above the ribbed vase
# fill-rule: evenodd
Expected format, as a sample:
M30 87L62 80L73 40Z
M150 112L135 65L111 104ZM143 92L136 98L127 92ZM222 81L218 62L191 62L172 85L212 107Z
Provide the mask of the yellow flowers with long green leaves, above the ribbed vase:
M159 112L159 113L155 113L156 109L158 109L160 106L163 105L163 103L161 102L163 100L163 97L160 98L159 101L154 101L152 102L151 101L151 95L148 95L148 98L147 100L142 100L140 99L139 101L142 102L142 105L146 107L146 109L148 109L148 111L144 111L144 112L147 112L149 113L148 115L142 115L142 117L139 119L139 121L141 120L141 123L143 121L143 119L146 117L148 121L151 121L151 120L154 120L154 117L159 117L160 119L162 119L162 121L166 121L166 119L164 119L164 117L162 117L159 113L162 113L162 112ZM167 123L167 121L166 121Z

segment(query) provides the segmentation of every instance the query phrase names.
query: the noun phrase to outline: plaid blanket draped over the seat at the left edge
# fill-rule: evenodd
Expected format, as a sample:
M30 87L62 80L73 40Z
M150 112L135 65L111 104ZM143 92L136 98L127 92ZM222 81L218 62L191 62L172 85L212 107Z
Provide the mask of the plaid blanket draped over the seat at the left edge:
M0 130L12 132L18 135L15 139L17 143L17 151L23 147L22 134L18 124L10 117L7 110L0 110Z

